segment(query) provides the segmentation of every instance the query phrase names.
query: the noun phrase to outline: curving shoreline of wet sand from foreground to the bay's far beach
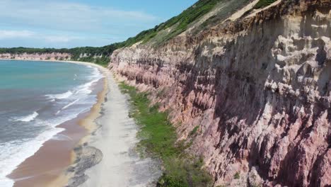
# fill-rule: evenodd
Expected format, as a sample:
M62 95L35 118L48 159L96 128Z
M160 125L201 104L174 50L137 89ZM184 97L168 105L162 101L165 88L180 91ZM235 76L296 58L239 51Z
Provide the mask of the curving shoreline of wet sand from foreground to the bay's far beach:
M0 59L0 60L15 60L15 59ZM76 149L87 144L93 131L98 128L95 124L101 114L101 106L105 101L105 95L108 91L108 84L106 73L108 69L98 64L90 62L76 62L76 61L60 61L60 60L18 60L18 61L40 61L40 62L64 62L81 64L85 66L96 67L103 74L103 78L93 86L92 91L96 91L97 101L93 104L91 109L87 112L80 113L76 118L57 125L56 128L64 129L57 135L65 135L70 137L70 141L53 140L54 135L50 140L42 144L35 154L25 159L24 162L18 164L15 170L11 171L7 177L13 180L13 186L66 186L74 174L69 172L69 168L76 164L79 160ZM55 149L55 150L54 150ZM60 153L60 154L59 154ZM48 159L47 159L48 157ZM50 162L49 157L52 157ZM56 157L56 159L54 159ZM61 162L59 162L61 160ZM35 168L36 166L36 168ZM52 170L50 170L52 169ZM34 171L31 171L34 170ZM40 173L45 172L46 173ZM39 173L38 173L39 172ZM36 180L36 181L34 181Z

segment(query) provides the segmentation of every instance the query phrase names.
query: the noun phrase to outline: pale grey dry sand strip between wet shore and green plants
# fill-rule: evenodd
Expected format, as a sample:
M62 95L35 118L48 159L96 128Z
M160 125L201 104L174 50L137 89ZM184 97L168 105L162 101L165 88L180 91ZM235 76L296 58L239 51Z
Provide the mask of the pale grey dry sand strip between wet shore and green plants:
M89 179L81 186L156 186L153 182L161 176L159 162L139 158L135 150L139 128L129 118L128 98L121 93L110 72L107 79L109 92L103 115L96 120L100 128L90 142L103 152L103 160L86 171Z

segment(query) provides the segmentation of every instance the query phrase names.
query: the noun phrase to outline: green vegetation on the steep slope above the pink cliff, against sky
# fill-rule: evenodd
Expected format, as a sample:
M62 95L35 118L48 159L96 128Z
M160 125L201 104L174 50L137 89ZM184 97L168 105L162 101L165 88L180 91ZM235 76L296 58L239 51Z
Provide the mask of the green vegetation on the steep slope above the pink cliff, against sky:
M276 0L260 0L260 1L276 1ZM190 6L180 15L171 18L165 23L161 23L152 29L144 30L133 38L129 38L127 41L122 42L122 47L128 47L137 42L146 43L153 39L156 45L162 44L163 42L170 40L171 38L179 35L189 28L189 26L197 21L202 16L209 13L216 5L221 4L222 10L216 15L211 16L201 26L194 30L197 33L199 30L207 28L207 26L215 26L217 23L223 21L227 16L238 11L248 4L249 0L200 0L196 4ZM169 29L169 30L168 30Z

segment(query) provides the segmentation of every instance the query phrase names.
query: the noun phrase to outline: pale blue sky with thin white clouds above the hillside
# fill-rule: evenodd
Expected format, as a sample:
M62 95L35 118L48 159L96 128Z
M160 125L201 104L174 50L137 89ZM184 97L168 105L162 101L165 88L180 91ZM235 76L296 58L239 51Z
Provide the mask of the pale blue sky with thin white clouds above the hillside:
M121 42L197 0L0 0L0 47L83 47Z

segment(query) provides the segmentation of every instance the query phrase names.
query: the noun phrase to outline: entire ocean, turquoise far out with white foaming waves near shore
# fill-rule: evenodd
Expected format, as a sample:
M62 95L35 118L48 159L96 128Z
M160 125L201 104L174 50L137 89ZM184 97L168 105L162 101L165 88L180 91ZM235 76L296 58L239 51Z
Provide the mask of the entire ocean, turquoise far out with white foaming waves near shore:
M0 60L0 187L13 186L6 176L44 142L69 138L56 126L91 109L102 78L81 64Z

